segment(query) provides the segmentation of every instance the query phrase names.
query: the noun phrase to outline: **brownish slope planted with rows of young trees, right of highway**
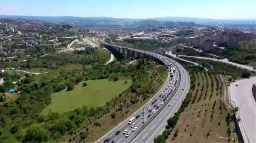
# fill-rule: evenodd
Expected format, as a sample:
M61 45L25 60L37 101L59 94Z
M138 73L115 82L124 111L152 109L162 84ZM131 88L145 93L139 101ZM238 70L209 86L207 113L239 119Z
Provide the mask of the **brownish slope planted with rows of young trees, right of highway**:
M195 79L192 102L180 114L166 143L238 143L234 123L226 122L229 110L219 76L195 73Z

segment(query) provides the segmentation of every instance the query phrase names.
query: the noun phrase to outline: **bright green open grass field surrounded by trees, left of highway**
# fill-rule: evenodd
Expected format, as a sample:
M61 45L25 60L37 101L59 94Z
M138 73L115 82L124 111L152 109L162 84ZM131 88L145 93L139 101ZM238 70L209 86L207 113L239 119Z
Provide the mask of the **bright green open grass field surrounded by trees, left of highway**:
M81 108L83 105L87 107L99 107L107 101L122 93L131 86L131 80L124 84L125 80L108 81L108 79L89 80L87 87L82 87L83 81L75 85L74 90L62 90L58 93L52 93L51 104L44 109L43 113L49 111L64 113Z

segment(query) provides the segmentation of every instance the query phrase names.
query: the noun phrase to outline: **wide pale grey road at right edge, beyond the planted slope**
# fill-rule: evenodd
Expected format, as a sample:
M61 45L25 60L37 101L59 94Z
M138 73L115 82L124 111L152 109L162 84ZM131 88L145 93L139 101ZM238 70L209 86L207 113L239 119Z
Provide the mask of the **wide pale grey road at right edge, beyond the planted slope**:
M239 83L239 86L235 84ZM239 115L250 143L256 142L256 103L253 99L252 87L256 77L243 79L231 84L230 97L239 108Z

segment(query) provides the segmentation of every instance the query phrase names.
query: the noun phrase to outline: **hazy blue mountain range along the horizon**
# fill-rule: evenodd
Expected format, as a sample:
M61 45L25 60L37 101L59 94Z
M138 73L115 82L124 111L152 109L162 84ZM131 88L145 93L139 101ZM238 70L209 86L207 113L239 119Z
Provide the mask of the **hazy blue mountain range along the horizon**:
M113 24L113 22L133 22L140 20L157 20L157 21L181 21L181 22L195 22L201 25L215 25L218 23L226 25L241 25L241 24L256 24L256 18L240 19L240 20L217 20L209 18L195 18L195 17L155 17L148 19L130 19L130 18L112 18L112 17L73 17L73 16L59 16L59 17L38 17L38 16L15 16L15 15L0 15L0 17L9 17L17 19L28 20L42 20L46 22L78 22L86 23L87 25L94 25L96 23Z

